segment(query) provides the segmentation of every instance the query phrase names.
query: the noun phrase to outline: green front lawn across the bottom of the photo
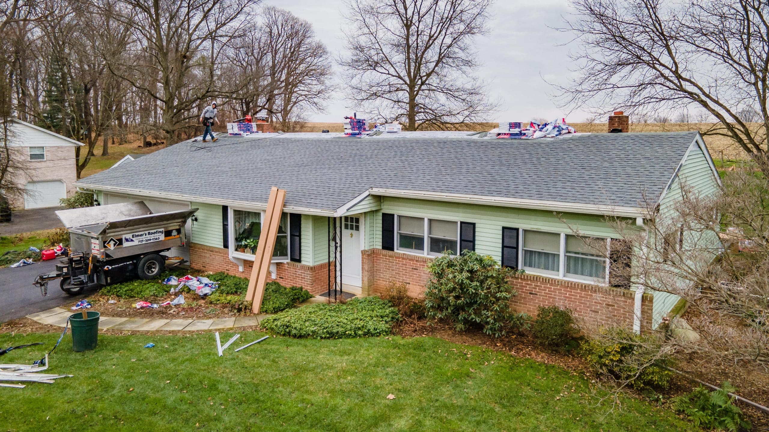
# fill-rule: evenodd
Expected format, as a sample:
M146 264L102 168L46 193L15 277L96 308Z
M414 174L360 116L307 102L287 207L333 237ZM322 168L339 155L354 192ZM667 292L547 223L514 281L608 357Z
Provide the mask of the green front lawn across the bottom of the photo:
M222 334L222 343L231 335ZM75 377L0 390L0 424L89 431L691 429L638 400L609 412L580 395L590 391L581 377L479 347L431 337L271 337L235 353L260 336L244 332L217 357L213 334L100 334L97 349L86 353L71 351L67 335L47 372ZM0 334L0 346L43 341L48 348L56 337ZM145 348L148 342L156 346ZM43 352L25 348L2 361L28 363Z

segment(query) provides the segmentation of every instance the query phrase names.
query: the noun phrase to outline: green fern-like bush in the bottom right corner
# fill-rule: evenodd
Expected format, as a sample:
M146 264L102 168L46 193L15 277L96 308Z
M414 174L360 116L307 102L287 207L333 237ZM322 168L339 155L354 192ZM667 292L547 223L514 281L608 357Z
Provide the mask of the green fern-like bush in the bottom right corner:
M691 393L674 397L672 407L676 413L688 417L694 426L707 430L750 430L751 423L729 396L735 390L729 381L721 385L721 390L709 391L700 386Z

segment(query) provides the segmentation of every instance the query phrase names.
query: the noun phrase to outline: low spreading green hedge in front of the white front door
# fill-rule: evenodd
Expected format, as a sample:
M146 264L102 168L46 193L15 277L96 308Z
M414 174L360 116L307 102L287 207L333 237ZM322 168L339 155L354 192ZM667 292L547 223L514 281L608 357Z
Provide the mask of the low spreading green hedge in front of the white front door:
M339 339L391 334L398 309L379 297L308 304L265 318L261 327L283 336Z

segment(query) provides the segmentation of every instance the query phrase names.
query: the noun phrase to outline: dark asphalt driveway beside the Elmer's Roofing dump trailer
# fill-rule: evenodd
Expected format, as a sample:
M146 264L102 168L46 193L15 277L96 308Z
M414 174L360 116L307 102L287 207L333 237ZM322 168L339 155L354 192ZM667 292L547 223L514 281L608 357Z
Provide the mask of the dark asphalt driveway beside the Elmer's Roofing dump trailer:
M95 288L86 288L83 294L71 296L58 287L58 280L48 284L48 296L32 285L41 273L55 271L58 260L40 261L20 268L0 268L0 323L12 321L35 312L57 306L72 306L76 301L93 294Z

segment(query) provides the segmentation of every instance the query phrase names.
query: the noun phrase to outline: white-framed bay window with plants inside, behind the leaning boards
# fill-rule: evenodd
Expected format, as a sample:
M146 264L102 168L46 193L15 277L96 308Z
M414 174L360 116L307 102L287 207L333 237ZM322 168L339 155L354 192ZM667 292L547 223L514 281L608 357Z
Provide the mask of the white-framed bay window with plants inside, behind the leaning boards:
M261 221L265 218L265 212L240 208L230 208L229 211L230 254L253 261L259 245ZM288 261L289 248L288 213L283 213L275 238L275 249L272 251L272 262Z

